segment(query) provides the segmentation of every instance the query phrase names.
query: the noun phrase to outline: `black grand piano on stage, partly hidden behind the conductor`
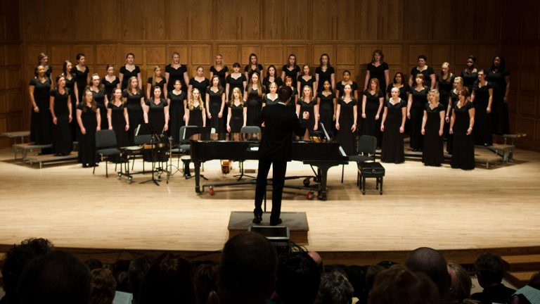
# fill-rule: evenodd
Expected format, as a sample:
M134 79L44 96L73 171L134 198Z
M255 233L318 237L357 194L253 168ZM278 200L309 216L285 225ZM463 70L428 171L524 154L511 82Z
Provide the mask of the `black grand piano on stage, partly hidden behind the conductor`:
M328 137L328 136L327 136ZM195 192L202 193L200 185L200 163L207 160L257 160L261 134L194 134L191 136L191 160L195 165ZM293 141L293 160L316 167L317 198L326 200L326 177L328 169L348 163L345 151L338 143ZM254 181L251 181L254 183ZM237 184L234 182L227 185ZM247 184L244 182L243 184Z

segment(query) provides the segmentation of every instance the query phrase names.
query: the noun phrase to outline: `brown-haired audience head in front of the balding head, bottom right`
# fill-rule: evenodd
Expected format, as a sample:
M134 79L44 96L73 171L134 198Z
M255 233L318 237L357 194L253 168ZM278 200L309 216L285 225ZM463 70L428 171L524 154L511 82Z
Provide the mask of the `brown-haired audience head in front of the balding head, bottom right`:
M433 304L439 303L439 293L425 274L394 265L377 274L368 303Z

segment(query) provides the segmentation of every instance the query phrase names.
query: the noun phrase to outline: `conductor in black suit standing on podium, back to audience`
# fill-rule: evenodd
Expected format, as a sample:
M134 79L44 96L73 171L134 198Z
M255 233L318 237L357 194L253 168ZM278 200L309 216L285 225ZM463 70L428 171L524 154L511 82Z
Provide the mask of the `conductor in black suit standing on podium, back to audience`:
M281 196L285 184L285 171L287 162L291 160L293 146L293 133L303 136L306 131L309 113L302 114L299 120L296 113L287 106L292 95L289 87L278 89L278 103L273 106L262 108L261 115L255 118L256 125L264 123L261 145L259 146L259 170L257 172L257 187L255 189L255 218L253 222L259 224L262 221L262 200L266 192L266 178L270 165L274 165L272 177L272 212L270 224L281 224Z

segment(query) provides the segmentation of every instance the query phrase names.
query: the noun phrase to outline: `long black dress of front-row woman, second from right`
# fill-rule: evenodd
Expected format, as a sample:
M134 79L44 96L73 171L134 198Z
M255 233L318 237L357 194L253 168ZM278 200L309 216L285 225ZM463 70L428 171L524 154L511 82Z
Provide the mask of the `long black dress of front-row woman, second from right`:
M425 111L428 113L428 120L425 121L424 146L422 150L422 163L424 165L436 166L443 161L443 143L442 136L439 136L441 128L441 112L445 112L442 103L435 108L430 108L430 104L425 105ZM444 118L444 116L443 116Z

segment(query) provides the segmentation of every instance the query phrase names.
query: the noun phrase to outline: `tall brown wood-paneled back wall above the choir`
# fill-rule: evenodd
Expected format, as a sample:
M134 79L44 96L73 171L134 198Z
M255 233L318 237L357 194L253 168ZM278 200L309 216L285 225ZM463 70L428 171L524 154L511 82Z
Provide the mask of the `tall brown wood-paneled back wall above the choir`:
M41 51L55 75L79 52L86 54L91 73L100 75L106 64L120 67L132 52L145 82L153 66L165 66L174 51L190 77L198 65L208 72L217 53L229 67L236 61L245 65L257 53L260 63L278 70L289 53L309 65L328 53L337 80L351 70L363 87L375 49L384 51L391 77L408 74L420 54L437 72L444 61L458 72L470 54L488 66L500 51L502 15L503 0L22 0L21 81L32 76ZM23 104L27 126L30 106Z

